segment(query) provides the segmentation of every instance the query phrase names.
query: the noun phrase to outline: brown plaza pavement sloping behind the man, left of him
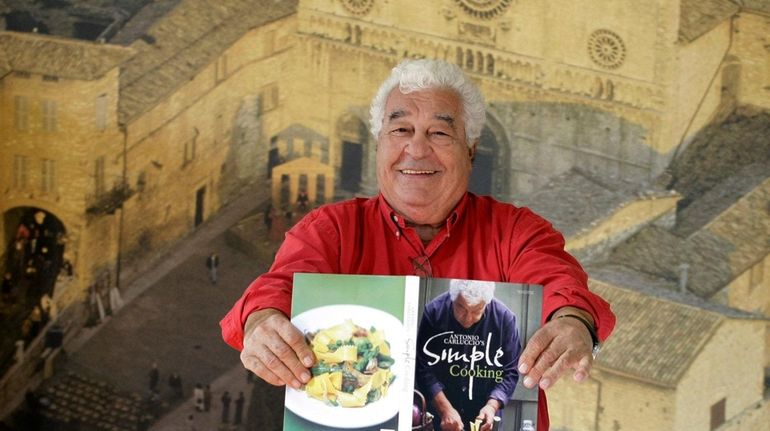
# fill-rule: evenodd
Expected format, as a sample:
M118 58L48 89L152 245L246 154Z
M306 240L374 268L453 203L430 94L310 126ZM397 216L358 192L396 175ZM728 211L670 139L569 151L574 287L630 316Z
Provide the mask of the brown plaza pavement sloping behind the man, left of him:
M243 289L262 273L268 262L259 262L225 241L225 232L266 201L269 187L254 187L243 193L219 214L207 220L159 263L148 269L125 271L133 279L121 289L125 305L105 322L85 329L68 347L62 371L74 371L115 385L119 390L142 396L148 393L148 373L153 362L160 370L160 397L167 413L150 428L153 431L194 429L280 430L283 389L259 379L247 382L238 353L221 339L219 320ZM220 256L219 281L208 279L206 257ZM174 400L168 376L182 377L184 397ZM210 384L211 411L196 412L192 388ZM243 391L244 421L248 427L223 426L220 396L229 391L232 402ZM255 399L252 394L257 394ZM249 402L251 401L251 402Z

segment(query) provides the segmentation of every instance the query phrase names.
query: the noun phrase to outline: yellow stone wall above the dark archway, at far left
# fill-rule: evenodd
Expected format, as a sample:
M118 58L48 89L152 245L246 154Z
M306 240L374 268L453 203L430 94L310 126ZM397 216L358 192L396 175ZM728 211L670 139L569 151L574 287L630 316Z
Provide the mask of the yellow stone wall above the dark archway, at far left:
M84 291L104 268L112 268L117 252L117 219L89 214L98 202L96 164L103 161L104 192L119 185L122 177L123 135L117 127L118 69L86 81L53 75L11 74L0 81L0 214L18 208L41 208L58 218L65 230L65 256L74 266L77 286ZM19 129L16 100L26 100L25 127ZM49 104L49 108L44 106ZM50 104L54 107L51 108ZM45 124L46 112L49 118ZM54 114L51 114L54 112ZM15 159L26 160L26 186L15 183ZM43 163L51 161L49 190L43 181ZM15 232L5 220L2 253ZM65 309L80 294L57 295Z

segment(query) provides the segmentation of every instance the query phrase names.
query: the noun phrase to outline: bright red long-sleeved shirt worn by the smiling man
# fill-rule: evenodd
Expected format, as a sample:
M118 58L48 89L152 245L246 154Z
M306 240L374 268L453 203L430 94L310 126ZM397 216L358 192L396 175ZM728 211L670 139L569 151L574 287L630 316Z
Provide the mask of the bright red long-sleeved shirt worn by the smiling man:
M295 272L420 275L417 263L433 277L542 285L544 321L574 306L593 316L602 340L615 326L609 304L588 290L588 276L550 223L527 208L466 193L427 245L382 195L312 211L286 234L270 270L222 319L222 335L242 350L243 325L253 311L276 308L289 316ZM538 428L548 429L542 391L540 399Z

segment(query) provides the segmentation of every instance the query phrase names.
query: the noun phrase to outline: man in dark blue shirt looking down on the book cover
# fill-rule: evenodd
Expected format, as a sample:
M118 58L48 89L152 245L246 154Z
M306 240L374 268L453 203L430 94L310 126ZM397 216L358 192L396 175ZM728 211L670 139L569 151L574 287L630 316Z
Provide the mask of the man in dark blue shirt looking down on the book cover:
M453 279L425 305L417 335L417 384L436 430L477 419L492 428L511 399L521 353L516 316L493 298L495 283Z

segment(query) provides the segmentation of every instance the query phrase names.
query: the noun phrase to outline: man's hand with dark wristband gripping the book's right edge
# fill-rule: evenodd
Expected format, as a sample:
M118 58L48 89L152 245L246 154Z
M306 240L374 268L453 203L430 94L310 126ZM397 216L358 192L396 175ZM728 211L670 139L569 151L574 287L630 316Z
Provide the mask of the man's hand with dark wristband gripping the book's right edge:
M583 310L564 307L537 330L519 358L519 372L526 377L524 386L546 390L556 383L567 369L574 369L573 378L582 382L588 377L593 364L591 334L579 320L559 319L562 314L578 314L592 322Z

